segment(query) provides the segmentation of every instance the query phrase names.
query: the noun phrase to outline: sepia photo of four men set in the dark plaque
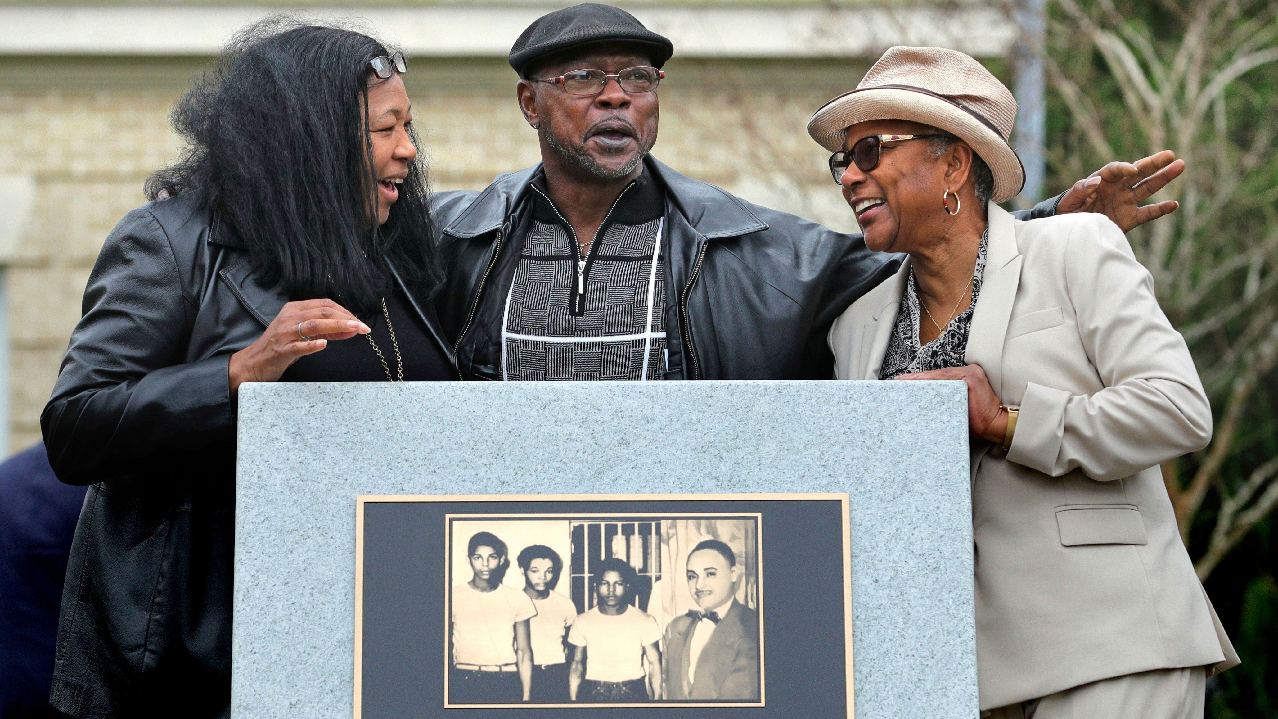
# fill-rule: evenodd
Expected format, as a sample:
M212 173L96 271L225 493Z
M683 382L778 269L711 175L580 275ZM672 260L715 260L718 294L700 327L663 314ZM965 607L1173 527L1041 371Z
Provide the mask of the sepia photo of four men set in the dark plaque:
M447 705L759 702L757 536L754 518L455 523Z

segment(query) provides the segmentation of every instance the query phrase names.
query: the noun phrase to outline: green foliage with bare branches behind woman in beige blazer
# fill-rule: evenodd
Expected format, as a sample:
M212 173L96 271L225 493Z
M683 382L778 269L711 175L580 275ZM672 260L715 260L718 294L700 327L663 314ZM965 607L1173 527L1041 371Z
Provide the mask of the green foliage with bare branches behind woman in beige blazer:
M1215 412L1164 466L1182 536L1242 665L1209 716L1278 716L1278 0L1056 0L1049 183L1169 148L1180 210L1128 237Z

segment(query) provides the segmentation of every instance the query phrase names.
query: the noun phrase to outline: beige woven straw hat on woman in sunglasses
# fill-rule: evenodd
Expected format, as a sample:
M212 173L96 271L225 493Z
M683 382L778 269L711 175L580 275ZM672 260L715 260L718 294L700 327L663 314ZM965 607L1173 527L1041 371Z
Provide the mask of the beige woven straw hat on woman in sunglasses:
M847 128L868 120L912 120L958 136L994 174L994 202L1016 197L1025 186L1025 168L1007 143L1016 99L969 55L943 47L892 47L856 90L813 113L808 134L836 152L843 148Z

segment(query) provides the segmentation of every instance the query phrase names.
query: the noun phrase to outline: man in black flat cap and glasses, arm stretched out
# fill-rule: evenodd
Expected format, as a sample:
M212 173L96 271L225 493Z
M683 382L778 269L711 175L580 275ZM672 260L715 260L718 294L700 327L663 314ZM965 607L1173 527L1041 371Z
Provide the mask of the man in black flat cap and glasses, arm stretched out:
M900 258L652 157L672 54L625 10L593 3L546 14L515 41L518 101L542 162L433 201L449 262L438 307L464 377L833 375L831 324ZM1160 214L1135 216L1136 173L1113 164L1021 217L1104 206L1130 229Z

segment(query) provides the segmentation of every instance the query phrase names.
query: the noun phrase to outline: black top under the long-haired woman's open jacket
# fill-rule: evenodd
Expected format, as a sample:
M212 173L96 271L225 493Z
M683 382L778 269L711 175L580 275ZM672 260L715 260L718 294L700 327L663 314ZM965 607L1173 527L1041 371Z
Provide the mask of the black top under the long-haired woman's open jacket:
M423 304L423 311L433 312L431 303ZM426 328L417 312L404 301L399 292L386 294L386 310L391 315L395 339L399 340L400 357L404 360L404 381L449 381L452 370L440 345L426 334ZM377 352L369 344L372 336L377 348L386 358L391 376L399 379L395 362L395 343L386 330L386 320L378 311L372 317L360 317L372 333L355 335L350 339L330 342L328 347L307 354L284 371L280 381L285 383L385 383L386 370L377 360Z

